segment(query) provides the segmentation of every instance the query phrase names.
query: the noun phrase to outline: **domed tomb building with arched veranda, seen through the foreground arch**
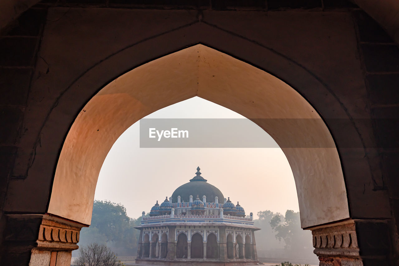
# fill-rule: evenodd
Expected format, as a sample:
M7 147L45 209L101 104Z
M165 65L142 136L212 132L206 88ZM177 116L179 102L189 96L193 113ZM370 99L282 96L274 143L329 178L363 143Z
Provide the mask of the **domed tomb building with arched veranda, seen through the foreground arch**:
M256 265L253 214L226 199L197 168L172 197L158 200L135 228L140 230L139 265ZM219 203L219 199L221 202Z

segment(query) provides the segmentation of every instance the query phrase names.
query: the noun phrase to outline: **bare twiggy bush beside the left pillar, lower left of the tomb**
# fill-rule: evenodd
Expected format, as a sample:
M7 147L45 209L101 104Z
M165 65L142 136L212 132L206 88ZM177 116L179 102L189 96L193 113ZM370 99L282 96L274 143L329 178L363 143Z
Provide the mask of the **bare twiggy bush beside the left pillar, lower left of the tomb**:
M91 243L80 248L76 266L123 266L111 248L104 244Z

